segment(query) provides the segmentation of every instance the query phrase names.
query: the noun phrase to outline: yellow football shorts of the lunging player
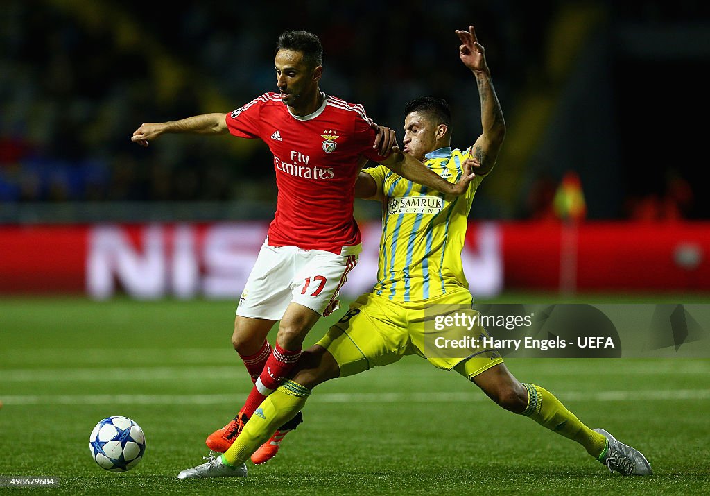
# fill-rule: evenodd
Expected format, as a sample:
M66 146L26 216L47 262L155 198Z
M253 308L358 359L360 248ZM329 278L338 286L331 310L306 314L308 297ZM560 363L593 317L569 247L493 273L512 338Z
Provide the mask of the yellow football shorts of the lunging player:
M400 303L376 293L366 293L351 304L348 312L332 325L317 345L333 355L340 367L340 377L389 365L405 355L420 355L439 369L453 369L471 379L503 362L501 355L491 348L471 350L467 356L456 358L427 357L424 352L425 325L431 328L434 318L430 312L425 315L425 308L444 304L470 308L473 302L467 289L447 291L442 296L413 303ZM486 330L480 327L472 332L479 335Z

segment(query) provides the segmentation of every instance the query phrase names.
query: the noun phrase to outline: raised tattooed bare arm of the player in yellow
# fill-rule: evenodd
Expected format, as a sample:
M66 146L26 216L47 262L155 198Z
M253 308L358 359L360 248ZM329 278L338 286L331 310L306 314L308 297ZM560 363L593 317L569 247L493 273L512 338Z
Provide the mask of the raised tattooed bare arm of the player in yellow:
M484 134L476 139L473 146L473 156L480 167L476 167L476 174L484 176L491 172L496 165L498 152L506 136L506 121L503 119L501 103L498 102L496 90L493 89L491 71L486 63L486 50L476 38L474 26L469 26L469 31L456 31L462 45L459 46L461 62L474 73L476 85L479 88L481 99L481 124Z

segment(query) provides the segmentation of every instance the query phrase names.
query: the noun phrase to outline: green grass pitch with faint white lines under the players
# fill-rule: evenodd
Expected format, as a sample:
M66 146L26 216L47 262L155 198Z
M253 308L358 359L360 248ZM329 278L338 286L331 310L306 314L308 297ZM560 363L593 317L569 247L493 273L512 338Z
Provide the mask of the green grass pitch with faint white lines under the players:
M205 436L234 415L251 385L230 349L234 306L0 300L0 476L60 478L32 493L107 495L709 490L710 361L670 359L508 362L589 426L640 448L650 478L609 475L576 443L503 411L458 374L406 357L319 387L305 423L275 460L250 465L249 478L178 480L182 468L202 463ZM108 473L89 455L89 433L109 415L129 416L146 432L146 455L129 473Z

